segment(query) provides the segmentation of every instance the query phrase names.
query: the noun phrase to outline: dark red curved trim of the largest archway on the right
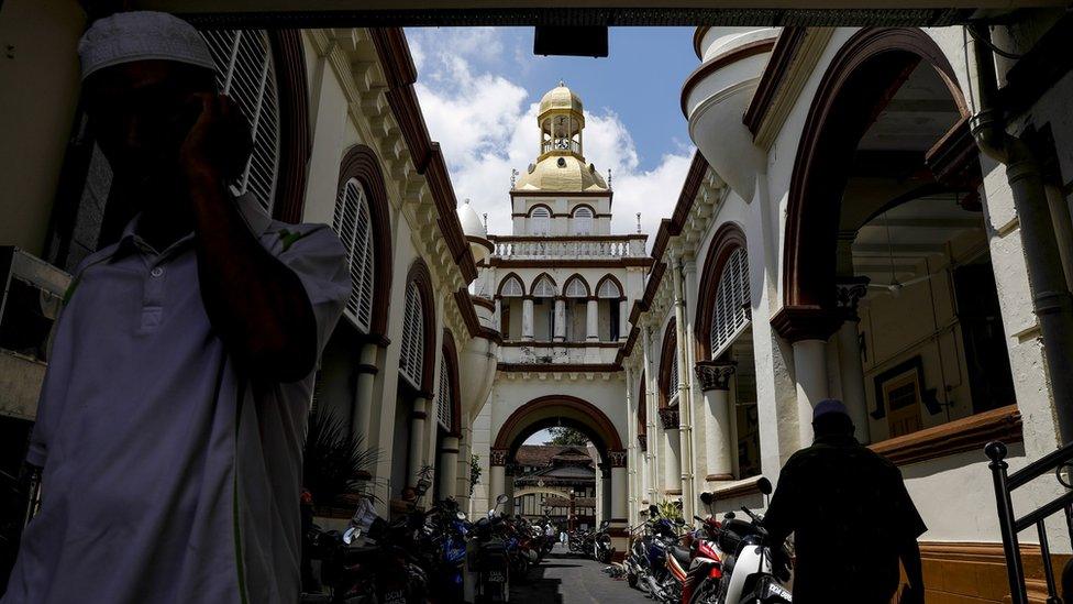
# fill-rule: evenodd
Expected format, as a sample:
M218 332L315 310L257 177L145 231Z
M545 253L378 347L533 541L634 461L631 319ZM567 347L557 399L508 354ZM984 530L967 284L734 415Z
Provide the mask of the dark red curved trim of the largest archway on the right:
M967 114L947 57L915 28L861 30L842 45L820 80L790 179L784 308L772 319L784 338L823 337L840 322L829 315L836 308L834 246L845 166L878 112L921 62L936 70L962 116Z

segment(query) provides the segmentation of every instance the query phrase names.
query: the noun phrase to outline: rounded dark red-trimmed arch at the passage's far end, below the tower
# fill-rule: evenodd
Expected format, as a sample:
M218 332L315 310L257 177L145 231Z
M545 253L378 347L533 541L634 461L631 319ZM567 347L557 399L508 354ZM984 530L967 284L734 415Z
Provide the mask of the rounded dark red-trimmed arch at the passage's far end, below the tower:
M627 468L626 448L618 429L599 407L571 395L547 395L518 407L496 432L490 451L489 507L500 494L513 501L512 466L518 449L531 435L552 427L574 428L593 442L599 462L597 481L601 481L598 517L611 523L616 554L626 552Z

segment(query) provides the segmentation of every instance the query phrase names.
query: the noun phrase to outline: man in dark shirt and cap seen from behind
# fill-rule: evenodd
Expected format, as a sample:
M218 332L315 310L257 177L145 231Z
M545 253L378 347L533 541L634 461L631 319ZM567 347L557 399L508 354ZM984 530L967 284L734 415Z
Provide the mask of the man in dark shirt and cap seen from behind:
M899 583L903 603L923 602L917 537L927 530L898 469L853 438L838 400L812 414L812 446L786 462L764 524L773 543L793 532L794 604L889 604Z

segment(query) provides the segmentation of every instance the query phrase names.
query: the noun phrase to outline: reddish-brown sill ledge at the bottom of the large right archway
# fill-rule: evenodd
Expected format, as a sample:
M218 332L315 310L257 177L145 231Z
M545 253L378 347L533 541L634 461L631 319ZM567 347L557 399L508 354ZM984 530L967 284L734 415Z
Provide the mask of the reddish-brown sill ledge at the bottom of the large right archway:
M993 440L1009 444L1024 439L1021 414L1017 405L1008 405L875 442L870 448L898 465L907 465L964 451L980 451Z

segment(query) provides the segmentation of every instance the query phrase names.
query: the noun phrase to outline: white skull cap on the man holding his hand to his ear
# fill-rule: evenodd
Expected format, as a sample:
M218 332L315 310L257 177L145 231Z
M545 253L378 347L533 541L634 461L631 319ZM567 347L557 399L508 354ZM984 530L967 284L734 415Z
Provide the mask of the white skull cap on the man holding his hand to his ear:
M93 73L135 61L175 61L215 70L201 34L166 12L118 12L98 19L78 42L82 80Z

